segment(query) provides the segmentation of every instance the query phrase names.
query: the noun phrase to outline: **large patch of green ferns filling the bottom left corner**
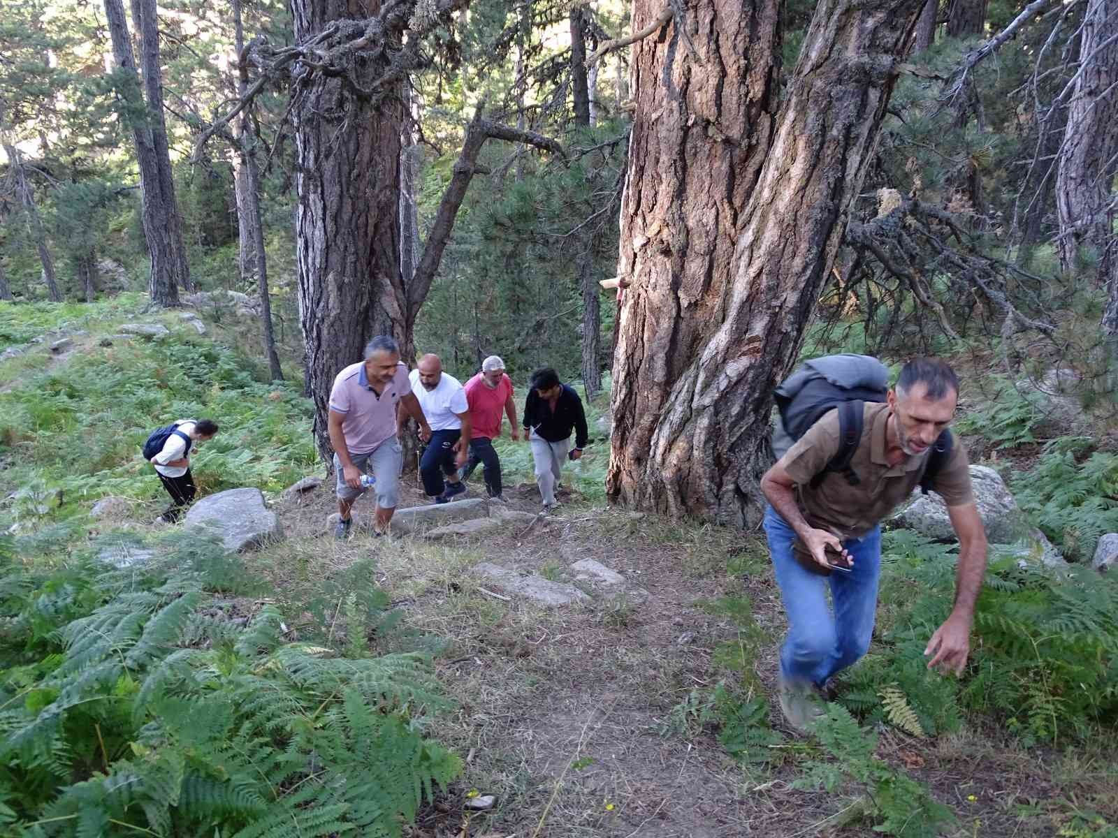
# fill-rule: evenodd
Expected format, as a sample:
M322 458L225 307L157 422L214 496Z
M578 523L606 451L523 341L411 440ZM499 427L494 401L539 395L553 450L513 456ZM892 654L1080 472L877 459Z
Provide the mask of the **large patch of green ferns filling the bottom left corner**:
M446 704L429 657L293 642L273 606L216 618L230 559L171 547L140 570L35 570L0 543L4 829L400 836L461 770L424 735Z

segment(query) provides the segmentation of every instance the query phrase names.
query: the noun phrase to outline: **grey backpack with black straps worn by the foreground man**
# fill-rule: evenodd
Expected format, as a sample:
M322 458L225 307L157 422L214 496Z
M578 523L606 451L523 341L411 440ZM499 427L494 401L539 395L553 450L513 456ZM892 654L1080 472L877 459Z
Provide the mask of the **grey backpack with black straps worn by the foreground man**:
M842 474L850 485L856 486L861 478L850 467L850 460L862 439L863 407L868 401L884 401L888 392L889 370L870 355L844 353L804 362L776 389L780 428L774 438L774 453L779 459L824 413L837 408L842 440L839 453L812 478L811 486L817 488L831 472ZM954 442L951 431L946 429L936 439L920 477L920 491L925 494L950 458Z

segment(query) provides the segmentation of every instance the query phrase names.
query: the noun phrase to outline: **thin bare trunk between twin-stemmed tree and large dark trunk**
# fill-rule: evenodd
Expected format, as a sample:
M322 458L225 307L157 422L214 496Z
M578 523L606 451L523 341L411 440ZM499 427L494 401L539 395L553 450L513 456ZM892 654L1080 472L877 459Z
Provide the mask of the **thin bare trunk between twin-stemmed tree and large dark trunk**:
M240 0L233 0L234 31L237 47L237 92L244 96L248 91L248 66L245 61L245 30L240 20ZM245 175L245 189L237 189L237 216L248 216L249 235L253 237L253 275L260 297L260 325L263 326L264 353L268 358L268 374L273 381L283 381L283 369L276 352L275 333L272 331L272 295L268 292L267 255L264 253L264 223L260 220L260 174L256 165L256 128L253 125L252 108L240 112L237 156L240 171ZM241 203L244 199L244 203ZM241 227L244 232L244 227ZM244 254L244 244L241 244Z

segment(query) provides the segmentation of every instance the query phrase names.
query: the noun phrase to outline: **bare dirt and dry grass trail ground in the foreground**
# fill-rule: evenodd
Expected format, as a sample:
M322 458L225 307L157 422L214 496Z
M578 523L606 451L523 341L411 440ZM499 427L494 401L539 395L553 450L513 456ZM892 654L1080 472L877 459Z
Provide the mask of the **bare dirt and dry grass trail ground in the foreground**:
M468 496L479 488L475 479ZM406 494L401 505L423 503L417 488ZM534 484L506 497L513 508L538 508ZM326 486L286 502L280 512L288 539L252 561L297 600L312 580L375 558L375 581L407 625L448 644L437 672L456 707L432 733L466 768L452 793L424 812L416 838L873 834L859 817L863 789L793 787L817 752L792 735L776 702L784 611L756 535L633 516L568 495L528 535L517 524L457 544L367 534L338 543L325 533L332 508ZM494 597L492 584L470 573L487 561L565 580L580 559L622 573L647 599L541 608ZM728 619L728 602L749 617ZM770 723L786 736L767 764L739 764L700 718L702 696L720 680L768 696ZM953 809L955 835L1058 835L1077 800L1103 804L1110 822L1118 817L1106 750L1026 751L995 727L972 724L934 740L882 730L878 755ZM494 794L496 806L467 812L472 791ZM1070 809L1044 802L1055 800L1072 801Z

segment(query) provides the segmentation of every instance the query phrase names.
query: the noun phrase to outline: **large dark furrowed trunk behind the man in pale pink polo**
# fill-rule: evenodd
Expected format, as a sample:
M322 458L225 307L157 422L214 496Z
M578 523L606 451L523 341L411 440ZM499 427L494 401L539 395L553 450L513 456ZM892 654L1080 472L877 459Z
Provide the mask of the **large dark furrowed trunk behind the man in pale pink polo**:
M380 0L292 0L303 44L333 21L376 15ZM353 68L363 87L389 56ZM377 334L394 336L404 360L415 353L400 277L400 132L396 85L379 105L337 77L314 74L292 111L299 178L295 210L300 323L314 400L314 432L328 456L326 417L334 375L361 360Z

